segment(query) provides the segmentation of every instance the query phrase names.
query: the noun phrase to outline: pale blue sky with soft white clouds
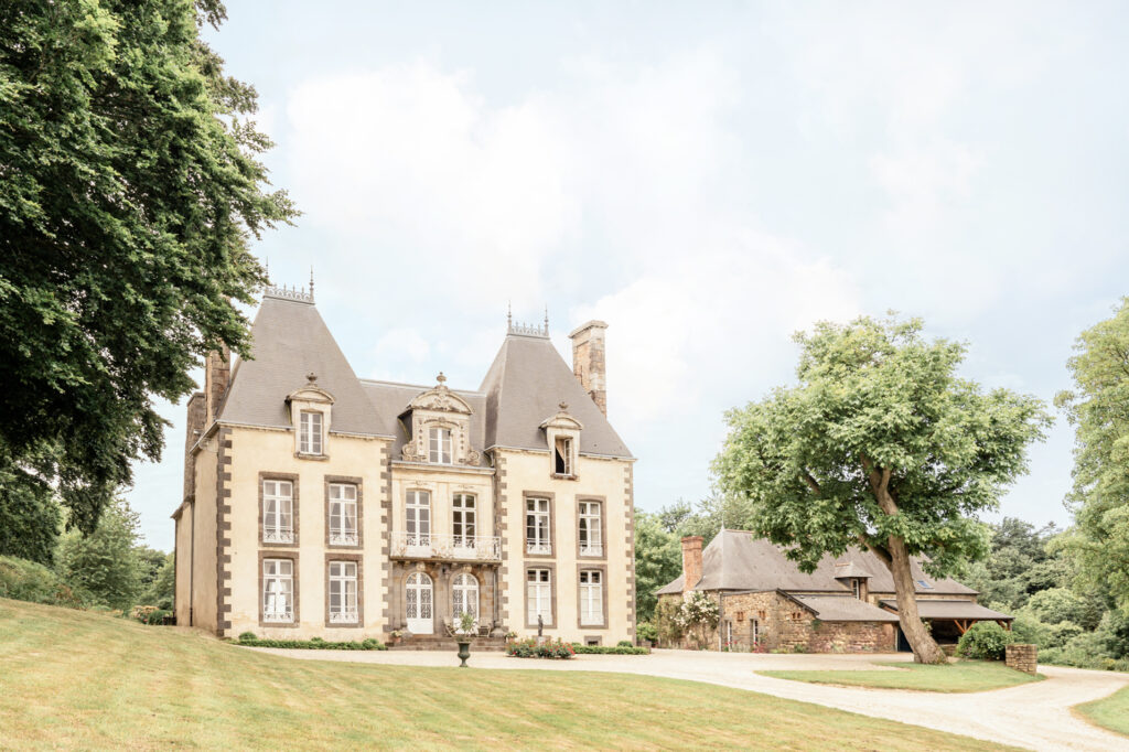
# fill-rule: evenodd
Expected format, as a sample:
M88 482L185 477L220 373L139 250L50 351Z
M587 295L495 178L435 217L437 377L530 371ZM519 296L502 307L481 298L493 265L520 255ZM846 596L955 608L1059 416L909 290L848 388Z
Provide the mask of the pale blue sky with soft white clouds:
M303 216L254 252L358 376L478 388L507 305L609 323L644 509L710 489L726 410L820 320L920 316L961 375L1048 402L1127 294L1129 6L229 0ZM128 498L170 549L184 406ZM1069 523L1073 430L1001 515ZM988 517L995 518L989 515Z

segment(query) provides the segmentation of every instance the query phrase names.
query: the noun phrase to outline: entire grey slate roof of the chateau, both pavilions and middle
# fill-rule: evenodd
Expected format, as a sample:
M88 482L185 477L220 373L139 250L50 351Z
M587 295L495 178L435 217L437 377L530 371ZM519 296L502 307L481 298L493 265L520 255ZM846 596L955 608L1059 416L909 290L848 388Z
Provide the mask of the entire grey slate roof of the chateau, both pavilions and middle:
M331 432L392 437L392 456L400 456L408 439L400 416L434 384L359 379L308 299L268 292L251 335L253 358L235 364L219 420L290 428L286 397L305 386L306 374L313 373L317 385L335 400ZM471 446L480 452L495 446L548 451L540 427L563 401L584 426L580 453L631 457L548 336L508 333L482 387L452 391L471 405Z

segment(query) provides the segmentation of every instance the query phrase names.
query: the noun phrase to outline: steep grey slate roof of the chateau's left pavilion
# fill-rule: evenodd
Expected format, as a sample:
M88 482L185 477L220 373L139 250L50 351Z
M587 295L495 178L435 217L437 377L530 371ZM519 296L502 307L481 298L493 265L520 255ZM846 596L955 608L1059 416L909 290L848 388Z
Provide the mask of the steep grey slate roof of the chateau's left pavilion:
M220 420L291 428L287 395L313 373L334 399L331 432L391 436L312 303L264 296L251 338L253 359L235 365Z

